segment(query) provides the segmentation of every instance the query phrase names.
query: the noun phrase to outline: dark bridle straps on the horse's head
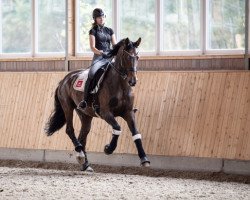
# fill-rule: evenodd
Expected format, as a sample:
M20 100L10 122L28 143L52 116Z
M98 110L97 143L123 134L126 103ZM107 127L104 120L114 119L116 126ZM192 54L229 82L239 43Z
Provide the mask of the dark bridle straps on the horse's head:
M110 63L110 64L113 67L113 69L116 72L118 72L118 74L125 80L128 77L128 72L137 72L137 67L135 66L135 62L138 59L139 52L137 52L135 55L130 54L125 49L123 49L123 52L125 52L132 59L132 66L129 69L125 68L123 65L124 56L122 56L121 61L119 63L119 66L121 67L121 69L123 69L123 71L117 69L112 63Z

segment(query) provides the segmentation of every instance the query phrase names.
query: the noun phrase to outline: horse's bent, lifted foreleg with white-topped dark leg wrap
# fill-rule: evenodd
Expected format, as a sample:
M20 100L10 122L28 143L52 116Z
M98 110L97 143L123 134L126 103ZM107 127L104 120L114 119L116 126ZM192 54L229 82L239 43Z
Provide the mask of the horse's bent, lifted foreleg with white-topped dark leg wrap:
M115 120L115 117L111 113L106 113L103 119L112 126L112 139L109 144L104 147L104 152L106 154L112 154L117 146L118 138L121 134L121 127Z

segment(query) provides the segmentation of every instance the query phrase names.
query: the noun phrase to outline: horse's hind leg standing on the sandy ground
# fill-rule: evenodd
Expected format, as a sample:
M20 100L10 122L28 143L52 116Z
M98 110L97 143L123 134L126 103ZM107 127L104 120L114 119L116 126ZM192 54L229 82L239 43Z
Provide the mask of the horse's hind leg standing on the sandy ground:
M90 167L90 164L88 162L87 153L86 153L86 142L87 142L87 136L89 134L90 128L91 128L91 122L92 117L89 117L87 115L84 115L77 111L77 114L81 120L81 130L78 137L79 142L82 144L83 152L84 152L84 162L81 162L81 156L77 157L77 160L80 164L82 164L82 171L93 171L93 169Z

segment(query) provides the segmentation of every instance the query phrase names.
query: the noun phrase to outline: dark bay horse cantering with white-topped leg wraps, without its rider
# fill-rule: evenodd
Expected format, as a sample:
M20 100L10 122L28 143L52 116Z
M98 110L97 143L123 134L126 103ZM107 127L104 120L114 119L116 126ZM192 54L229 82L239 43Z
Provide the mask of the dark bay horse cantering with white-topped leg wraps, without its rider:
M66 123L66 133L73 142L75 151L78 152L77 160L82 165L82 170L92 170L88 163L85 147L93 117L101 117L113 128L110 144L104 147L106 154L112 154L116 149L117 140L122 131L115 117L120 116L127 122L132 133L141 165L150 166L142 146L141 134L136 128L133 109L134 95L132 87L136 85L139 60L136 48L140 43L141 38L136 42L131 42L126 38L117 43L109 53L111 58L115 56L115 62L110 63L100 89L96 94L100 106L99 116L93 107L89 105L84 110L77 109L77 105L83 98L83 92L74 90L73 84L82 70L66 75L56 88L55 108L46 124L45 132L48 136L51 136ZM78 138L76 138L73 128L74 109L81 120L81 130Z

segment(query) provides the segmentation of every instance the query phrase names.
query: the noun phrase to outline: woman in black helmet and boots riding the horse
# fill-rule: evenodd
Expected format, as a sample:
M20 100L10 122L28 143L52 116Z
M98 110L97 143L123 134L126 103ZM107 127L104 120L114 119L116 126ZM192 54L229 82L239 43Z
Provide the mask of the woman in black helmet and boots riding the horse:
M88 79L85 83L84 99L78 105L78 107L82 109L87 107L91 80L98 69L100 69L100 67L102 67L105 62L107 62L105 58L108 58L110 44L113 46L116 44L114 31L111 28L104 26L106 15L104 14L103 10L100 8L94 9L92 16L94 23L92 24L92 28L89 31L89 42L94 56L92 59L91 68L89 70Z

